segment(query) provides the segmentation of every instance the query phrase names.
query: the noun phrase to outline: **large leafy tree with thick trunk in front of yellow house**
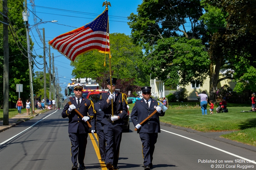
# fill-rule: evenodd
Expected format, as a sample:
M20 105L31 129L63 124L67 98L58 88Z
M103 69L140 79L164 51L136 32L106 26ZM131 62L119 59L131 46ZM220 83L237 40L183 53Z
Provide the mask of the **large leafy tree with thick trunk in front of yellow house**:
M241 55L234 60L234 54L238 51L234 49L239 47L239 53L244 50L247 53L248 48L244 48L246 45L240 45L248 37L241 38L241 30L240 34L235 34L240 37L227 32L237 24L234 14L230 14L231 7L228 8L228 2L233 0L223 0L222 4L217 3L217 0L209 1L144 0L138 6L138 14L132 13L128 18L131 21L132 38L146 50L143 60L147 65L144 69L151 72L152 79L161 79L169 86L176 82L179 85L194 81L203 84L209 75L210 99L215 101L217 84L221 80L235 79L232 71L241 68L238 64ZM233 30L239 32L236 28ZM251 61L248 55L243 57ZM231 71L219 79L221 69Z

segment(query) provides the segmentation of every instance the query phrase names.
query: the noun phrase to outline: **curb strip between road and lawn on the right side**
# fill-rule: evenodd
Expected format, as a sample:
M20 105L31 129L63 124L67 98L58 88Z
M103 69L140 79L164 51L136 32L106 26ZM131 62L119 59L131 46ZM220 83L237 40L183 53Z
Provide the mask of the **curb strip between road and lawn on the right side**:
M217 141L220 141L220 142L224 142L224 143L227 143L227 144L230 144L230 145L234 145L234 146L237 146L237 147L241 147L241 148L256 152L256 147L255 146L246 145L246 144L236 142L236 141L233 141L233 140L229 140L229 139L226 139L226 138L221 138L220 135L222 135L224 133L220 133L220 135L217 134L214 137L212 137L211 135L206 135L206 134L210 134L210 133L214 133L214 132L201 132L201 131L196 131L196 130L193 130L193 129L190 129L190 128L176 126L176 125L172 125L172 124L168 124L168 123L164 123L164 122L160 122L160 124L163 125L163 126L174 128L174 129L180 129L180 130L183 130L183 131L187 131L189 133L195 133L197 135L204 136L206 138L211 138L213 140L217 140ZM232 132L233 131L225 131L225 134L232 133Z

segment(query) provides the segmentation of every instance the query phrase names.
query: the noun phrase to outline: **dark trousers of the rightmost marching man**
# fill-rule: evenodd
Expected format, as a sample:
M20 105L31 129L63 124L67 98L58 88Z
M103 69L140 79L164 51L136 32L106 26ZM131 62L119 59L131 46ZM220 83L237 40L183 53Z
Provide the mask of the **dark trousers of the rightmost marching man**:
M142 142L142 155L144 158L144 166L152 165L153 153L158 133L139 133Z

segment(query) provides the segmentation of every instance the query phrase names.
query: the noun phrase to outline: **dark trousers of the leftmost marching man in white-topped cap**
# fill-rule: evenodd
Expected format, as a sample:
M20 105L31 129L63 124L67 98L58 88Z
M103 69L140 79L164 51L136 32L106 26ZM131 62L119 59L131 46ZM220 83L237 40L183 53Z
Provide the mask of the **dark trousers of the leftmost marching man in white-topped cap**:
M84 165L85 149L87 145L88 133L69 133L71 141L71 161L73 166L77 166L77 155L78 163Z

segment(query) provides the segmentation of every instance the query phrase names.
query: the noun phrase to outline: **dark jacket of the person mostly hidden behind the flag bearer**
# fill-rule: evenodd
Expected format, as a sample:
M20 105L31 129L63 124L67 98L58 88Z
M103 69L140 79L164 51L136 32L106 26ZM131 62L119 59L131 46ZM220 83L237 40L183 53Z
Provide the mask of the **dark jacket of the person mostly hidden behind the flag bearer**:
M91 130L95 130L95 125L97 130L103 130L103 126L100 122L106 117L106 115L100 108L100 102L94 103L94 110L96 111L96 118L91 121Z

